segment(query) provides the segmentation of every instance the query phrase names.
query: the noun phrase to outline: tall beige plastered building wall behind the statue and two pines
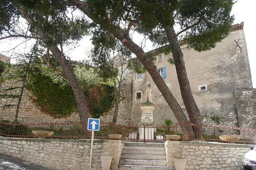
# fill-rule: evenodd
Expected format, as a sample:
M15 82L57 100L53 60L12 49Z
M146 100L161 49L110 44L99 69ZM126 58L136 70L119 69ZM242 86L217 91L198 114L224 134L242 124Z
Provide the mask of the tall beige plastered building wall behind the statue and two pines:
M193 48L188 48L186 44L181 46L181 50L184 54L191 92L201 114L207 116L212 114L219 118L220 124L237 127L238 116L234 90L252 88L243 23L233 27L229 35L211 50L197 52ZM168 58L173 58L172 53L163 54L163 60L155 60L154 63L157 69L166 68L164 81L187 116L181 98L176 68L175 65L168 63ZM136 92L142 91L143 93L143 84L146 80L152 86L152 103L155 105L154 124L163 125L165 118L177 122L173 111L169 108L148 72L142 77L143 79L136 80L136 75L134 75L132 98L134 122L140 123L140 104L144 102L144 99L136 100ZM204 85L205 89L201 90L200 86ZM209 121L206 120L206 122Z

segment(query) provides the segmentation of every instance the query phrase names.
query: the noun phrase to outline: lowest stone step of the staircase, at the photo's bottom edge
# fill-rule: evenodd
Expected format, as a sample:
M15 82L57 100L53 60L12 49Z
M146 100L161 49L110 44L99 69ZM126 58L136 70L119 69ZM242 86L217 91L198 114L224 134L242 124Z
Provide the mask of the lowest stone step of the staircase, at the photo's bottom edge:
M167 166L118 165L119 170L170 170Z

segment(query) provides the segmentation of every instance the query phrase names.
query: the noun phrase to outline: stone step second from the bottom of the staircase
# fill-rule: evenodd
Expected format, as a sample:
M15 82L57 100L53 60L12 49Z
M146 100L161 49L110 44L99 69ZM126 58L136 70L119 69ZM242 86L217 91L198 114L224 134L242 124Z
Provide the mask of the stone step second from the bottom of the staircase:
M163 160L135 160L135 159L120 159L121 165L147 165L147 166L167 166L167 161Z

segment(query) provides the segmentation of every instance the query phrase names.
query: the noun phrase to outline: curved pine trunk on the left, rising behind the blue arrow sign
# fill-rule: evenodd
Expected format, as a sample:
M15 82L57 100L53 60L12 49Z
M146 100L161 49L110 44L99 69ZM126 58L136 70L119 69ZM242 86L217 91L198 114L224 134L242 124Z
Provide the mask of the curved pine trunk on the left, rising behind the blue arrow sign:
M52 54L57 59L58 63L60 64L60 67L65 74L66 78L68 79L71 88L73 90L75 100L78 106L78 114L79 118L82 124L82 129L84 133L84 137L90 137L90 132L87 130L87 122L89 118L89 110L86 103L86 98L83 94L82 88L76 78L76 75L74 74L74 71L72 67L69 65L66 57L63 55L63 53L59 50L57 45L49 45L53 44L52 39L44 32L42 29L40 23L42 23L42 18L37 18L38 20L34 21L32 20L26 12L20 8L19 6L16 6L18 9L20 15L22 15L23 18L25 18L30 25L34 26L37 34L41 38L41 40L47 45L49 50L52 52ZM40 16L40 15L39 15Z

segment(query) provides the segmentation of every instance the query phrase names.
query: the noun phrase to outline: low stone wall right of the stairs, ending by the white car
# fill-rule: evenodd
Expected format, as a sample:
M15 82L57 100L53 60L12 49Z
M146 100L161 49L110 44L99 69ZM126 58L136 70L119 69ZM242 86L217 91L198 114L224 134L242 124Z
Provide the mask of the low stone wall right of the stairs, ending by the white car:
M193 141L165 142L167 166L175 169L174 159L186 159L185 169L243 169L243 157L250 145Z

